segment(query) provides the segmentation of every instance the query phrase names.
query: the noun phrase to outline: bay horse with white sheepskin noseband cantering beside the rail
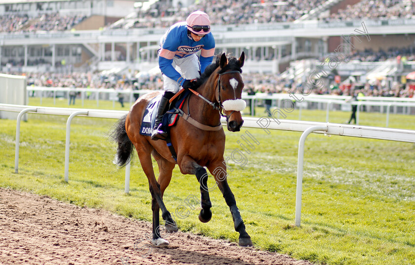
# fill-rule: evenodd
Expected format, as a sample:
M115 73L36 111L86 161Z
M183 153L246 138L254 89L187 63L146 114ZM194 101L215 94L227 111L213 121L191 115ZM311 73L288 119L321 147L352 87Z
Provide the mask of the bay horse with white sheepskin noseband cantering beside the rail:
M229 206L234 228L239 232L239 245L252 246L252 241L236 206L235 196L226 179L226 163L223 157L225 133L220 122L221 115L226 116L227 129L231 132L240 131L244 122L241 116L241 110L246 107L245 101L241 99L244 88L241 68L244 61L244 52L239 58L222 53L197 79L196 82L200 87L195 94L191 93L186 99L187 102L183 104L183 112L191 114L191 118L188 120L179 118L176 125L170 127L169 135L171 144L177 153L177 161L171 156L166 141L151 140L150 136L140 134L144 110L149 101L159 95L159 91L139 97L131 106L128 114L118 121L111 133L118 145L114 163L120 167L125 166L131 159L133 147L135 147L142 169L148 178L153 211L151 242L155 245L169 244L160 236L160 209L162 218L165 220L166 232L178 230L163 202L163 194L170 183L172 170L177 164L182 174L196 175L200 183L202 209L199 220L207 222L212 216L210 210L212 204L207 188L207 171L204 168L207 167ZM189 124L189 120L193 120L193 123ZM157 180L153 171L151 154L159 166L160 173Z

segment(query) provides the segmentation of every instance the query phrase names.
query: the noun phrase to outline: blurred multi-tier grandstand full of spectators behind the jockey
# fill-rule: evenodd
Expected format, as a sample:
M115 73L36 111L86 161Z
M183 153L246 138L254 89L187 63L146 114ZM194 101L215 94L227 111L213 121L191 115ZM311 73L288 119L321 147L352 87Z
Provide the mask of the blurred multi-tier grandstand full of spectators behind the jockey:
M157 68L166 27L196 9L211 17L216 52L245 51L244 71L270 77L247 78L268 80L258 89L310 73L329 81L323 92L336 75L391 88L415 71L411 0L1 0L0 70L131 77Z

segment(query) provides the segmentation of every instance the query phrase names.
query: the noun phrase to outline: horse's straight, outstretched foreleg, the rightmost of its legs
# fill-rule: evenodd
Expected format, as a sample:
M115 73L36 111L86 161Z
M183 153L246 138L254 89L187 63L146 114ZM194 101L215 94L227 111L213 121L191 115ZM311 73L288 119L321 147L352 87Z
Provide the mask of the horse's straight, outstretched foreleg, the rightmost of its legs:
M229 206L232 219L234 221L235 231L239 232L239 245L243 247L252 246L252 241L245 229L245 224L242 220L241 214L239 213L239 209L236 206L235 196L229 187L228 181L226 180L227 173L224 163L221 162L211 164L207 167L207 169L215 178L216 184L222 192L226 204Z

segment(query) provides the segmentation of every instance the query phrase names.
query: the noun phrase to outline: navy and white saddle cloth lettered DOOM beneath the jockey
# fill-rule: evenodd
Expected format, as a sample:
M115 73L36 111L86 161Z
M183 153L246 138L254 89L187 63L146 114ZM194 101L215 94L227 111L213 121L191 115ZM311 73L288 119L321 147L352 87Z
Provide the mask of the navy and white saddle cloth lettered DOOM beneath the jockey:
M183 102L186 97L189 95L190 91L183 91L178 99L175 99L169 108L169 111L165 113L162 121L162 130L168 133L168 127L171 127L176 124L178 112L175 109L180 109L183 106ZM159 108L160 99L162 94L156 96L150 102L148 102L147 107L144 111L143 121L141 122L140 134L141 135L151 135L153 133L153 127L156 123L157 109Z

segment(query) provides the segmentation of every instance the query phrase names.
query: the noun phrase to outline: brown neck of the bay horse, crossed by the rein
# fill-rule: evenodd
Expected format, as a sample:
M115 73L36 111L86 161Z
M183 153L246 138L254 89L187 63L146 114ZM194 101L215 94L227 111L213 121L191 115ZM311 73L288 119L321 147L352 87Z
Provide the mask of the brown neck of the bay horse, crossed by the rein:
M215 82L217 81L217 78L218 76L213 73L212 76L197 89L198 93L213 103L216 103ZM219 112L214 110L211 105L199 96L194 94L191 95L192 96L189 97L189 112L193 119L208 126L217 126L220 123Z

